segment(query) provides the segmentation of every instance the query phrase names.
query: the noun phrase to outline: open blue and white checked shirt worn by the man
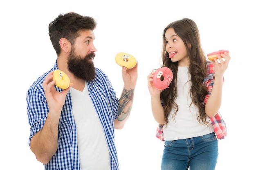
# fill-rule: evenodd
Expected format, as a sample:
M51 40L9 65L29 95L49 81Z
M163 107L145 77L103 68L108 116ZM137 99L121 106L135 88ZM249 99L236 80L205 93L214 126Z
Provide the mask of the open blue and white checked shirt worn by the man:
M27 114L29 118L31 138L41 130L45 124L49 108L43 90L45 76L58 69L57 62L54 67L40 76L27 91ZM94 104L97 115L103 127L105 138L110 152L111 170L119 170L117 150L115 147L114 119L117 118L118 99L108 77L99 68L96 77L88 82L88 91ZM57 91L62 91L56 87ZM92 129L93 130L93 129ZM76 124L72 115L72 100L70 92L67 93L65 104L61 111L58 128L58 149L49 163L44 164L45 170L80 170Z

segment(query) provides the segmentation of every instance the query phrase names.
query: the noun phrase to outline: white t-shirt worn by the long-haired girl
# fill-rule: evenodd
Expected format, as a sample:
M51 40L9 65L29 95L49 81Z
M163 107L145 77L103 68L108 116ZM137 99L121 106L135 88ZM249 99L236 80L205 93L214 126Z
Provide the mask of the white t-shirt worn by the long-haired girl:
M206 121L209 125L198 121L198 108L191 103L190 96L191 75L189 73L189 66L178 67L177 72L177 99L175 103L179 106L174 119L172 117L174 110L171 111L168 117L168 125L164 126L164 140L171 141L177 139L187 139L191 137L198 137L214 132L211 125L210 117Z

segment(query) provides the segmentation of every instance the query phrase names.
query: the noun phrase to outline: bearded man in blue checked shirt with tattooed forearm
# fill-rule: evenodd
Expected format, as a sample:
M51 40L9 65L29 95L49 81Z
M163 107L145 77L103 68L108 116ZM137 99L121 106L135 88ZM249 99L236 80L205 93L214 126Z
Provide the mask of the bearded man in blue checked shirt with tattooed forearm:
M29 147L45 170L119 170L115 129L129 117L138 66L122 67L118 99L108 77L94 67L95 28L93 18L74 12L49 24L57 59L27 91ZM55 86L56 69L70 78L67 89Z

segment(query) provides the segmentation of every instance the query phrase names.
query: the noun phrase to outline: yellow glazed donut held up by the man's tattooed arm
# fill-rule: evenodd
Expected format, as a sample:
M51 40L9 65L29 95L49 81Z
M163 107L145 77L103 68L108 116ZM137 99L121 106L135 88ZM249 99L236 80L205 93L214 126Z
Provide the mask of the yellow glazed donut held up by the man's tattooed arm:
M125 66L126 68L133 68L137 64L137 60L133 55L128 53L117 53L115 61L119 66Z

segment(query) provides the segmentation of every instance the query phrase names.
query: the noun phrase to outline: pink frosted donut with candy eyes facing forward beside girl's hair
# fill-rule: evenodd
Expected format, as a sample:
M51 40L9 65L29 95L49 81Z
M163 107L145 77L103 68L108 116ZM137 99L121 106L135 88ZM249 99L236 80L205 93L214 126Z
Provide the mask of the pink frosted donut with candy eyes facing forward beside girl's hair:
M153 84L155 88L159 90L164 90L169 87L172 80L173 71L171 71L171 69L168 67L162 67L155 71L153 77Z

